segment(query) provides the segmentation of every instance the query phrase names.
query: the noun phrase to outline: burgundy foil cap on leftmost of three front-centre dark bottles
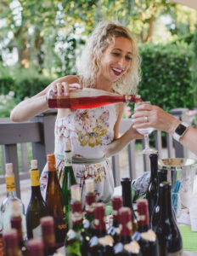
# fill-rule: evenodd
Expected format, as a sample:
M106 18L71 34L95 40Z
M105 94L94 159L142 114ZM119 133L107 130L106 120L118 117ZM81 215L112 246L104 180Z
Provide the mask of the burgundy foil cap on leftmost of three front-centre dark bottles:
M94 208L94 226L96 230L105 230L104 203L97 203Z

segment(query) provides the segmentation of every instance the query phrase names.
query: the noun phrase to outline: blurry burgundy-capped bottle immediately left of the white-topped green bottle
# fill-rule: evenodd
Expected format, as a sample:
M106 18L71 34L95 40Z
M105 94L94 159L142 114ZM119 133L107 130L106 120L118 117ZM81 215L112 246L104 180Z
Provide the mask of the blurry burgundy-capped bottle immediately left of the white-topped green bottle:
M42 229L42 241L44 245L44 255L53 255L56 252L54 220L52 216L42 217L40 219Z

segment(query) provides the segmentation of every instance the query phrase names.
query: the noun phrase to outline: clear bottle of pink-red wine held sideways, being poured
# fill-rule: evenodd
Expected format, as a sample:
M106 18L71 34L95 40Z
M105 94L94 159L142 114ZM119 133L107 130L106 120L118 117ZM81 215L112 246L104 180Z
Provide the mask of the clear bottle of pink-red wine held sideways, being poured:
M71 90L70 96L57 96L48 90L49 108L98 108L104 105L121 102L140 102L137 95L119 95L105 90L84 88Z

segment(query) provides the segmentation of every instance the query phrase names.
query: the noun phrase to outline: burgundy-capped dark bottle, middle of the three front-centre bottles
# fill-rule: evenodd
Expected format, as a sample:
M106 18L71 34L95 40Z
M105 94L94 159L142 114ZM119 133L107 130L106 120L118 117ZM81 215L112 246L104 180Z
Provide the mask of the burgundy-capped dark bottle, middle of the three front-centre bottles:
M114 255L141 255L138 242L132 241L132 212L129 207L121 207L119 210L119 222L121 233L119 242L114 247Z

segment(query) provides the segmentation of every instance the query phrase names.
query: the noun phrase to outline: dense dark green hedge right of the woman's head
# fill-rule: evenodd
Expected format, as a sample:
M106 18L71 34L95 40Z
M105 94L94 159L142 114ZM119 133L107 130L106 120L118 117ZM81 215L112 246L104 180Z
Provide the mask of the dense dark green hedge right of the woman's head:
M191 49L187 44L143 44L142 81L138 93L142 99L169 111L194 108L191 83Z

